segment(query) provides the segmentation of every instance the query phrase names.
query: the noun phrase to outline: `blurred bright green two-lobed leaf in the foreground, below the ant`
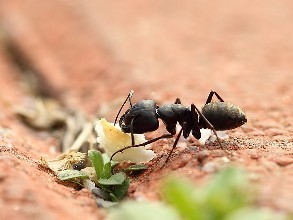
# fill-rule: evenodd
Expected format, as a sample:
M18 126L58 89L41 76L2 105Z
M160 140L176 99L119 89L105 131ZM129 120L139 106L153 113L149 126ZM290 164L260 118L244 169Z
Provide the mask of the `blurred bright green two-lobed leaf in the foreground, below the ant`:
M221 170L201 188L178 177L169 178L163 188L166 200L190 220L223 219L253 201L244 172L232 167Z

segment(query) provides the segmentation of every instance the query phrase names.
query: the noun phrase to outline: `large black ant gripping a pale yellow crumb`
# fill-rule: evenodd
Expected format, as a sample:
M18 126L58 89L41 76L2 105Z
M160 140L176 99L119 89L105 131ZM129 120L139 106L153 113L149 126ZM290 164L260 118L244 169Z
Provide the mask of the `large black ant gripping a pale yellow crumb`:
M111 156L111 160L117 153L123 152L126 149L145 146L162 138L174 137L177 123L181 125L181 129L164 165L168 162L182 133L185 139L190 133L196 139L200 139L201 128L211 129L221 149L224 150L216 131L234 129L247 122L244 112L238 106L225 102L215 91L209 93L207 101L202 107L202 111L199 111L194 104L191 104L190 108L182 105L179 98L176 99L174 104L165 104L162 106L158 106L154 100L141 100L133 105L131 102L133 93L133 90L131 90L114 121L115 125L122 108L127 100L129 100L130 108L121 116L119 125L123 132L131 134L132 145L116 151ZM218 98L218 102L212 102L214 95ZM135 145L134 134L143 134L157 130L159 128L159 118L164 122L169 134L164 134L142 144Z

